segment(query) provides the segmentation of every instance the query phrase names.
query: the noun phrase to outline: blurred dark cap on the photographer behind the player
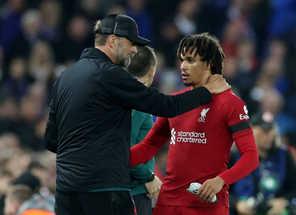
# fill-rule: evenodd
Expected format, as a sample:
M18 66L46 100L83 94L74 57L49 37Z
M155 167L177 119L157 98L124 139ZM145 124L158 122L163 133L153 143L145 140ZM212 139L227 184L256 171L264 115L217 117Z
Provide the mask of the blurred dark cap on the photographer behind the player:
M262 129L270 129L274 127L274 115L270 112L258 112L250 118L253 125L258 125Z

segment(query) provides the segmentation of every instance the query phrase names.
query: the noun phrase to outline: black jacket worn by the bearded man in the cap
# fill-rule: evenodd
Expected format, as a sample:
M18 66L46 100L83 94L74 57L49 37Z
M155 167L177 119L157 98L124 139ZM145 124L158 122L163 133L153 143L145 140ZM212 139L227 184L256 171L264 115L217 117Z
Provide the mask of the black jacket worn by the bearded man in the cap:
M132 109L175 117L210 101L205 87L176 96L162 94L99 49L85 49L53 86L44 141L46 149L57 154L56 191L129 188Z

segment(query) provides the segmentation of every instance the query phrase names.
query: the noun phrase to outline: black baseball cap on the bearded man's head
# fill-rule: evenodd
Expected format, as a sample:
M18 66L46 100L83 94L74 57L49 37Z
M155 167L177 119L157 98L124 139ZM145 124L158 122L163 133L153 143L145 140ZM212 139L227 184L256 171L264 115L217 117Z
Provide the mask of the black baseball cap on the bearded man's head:
M106 16L101 21L101 27L96 31L96 34L114 34L115 36L125 37L133 41L136 46L146 46L150 43L149 40L140 37L138 25L131 17L120 13Z

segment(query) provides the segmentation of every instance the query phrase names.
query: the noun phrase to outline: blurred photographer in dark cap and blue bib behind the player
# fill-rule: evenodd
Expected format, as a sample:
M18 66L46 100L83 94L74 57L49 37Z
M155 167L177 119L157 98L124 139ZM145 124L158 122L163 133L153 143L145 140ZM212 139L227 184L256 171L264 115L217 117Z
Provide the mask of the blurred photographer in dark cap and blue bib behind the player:
M259 166L231 187L232 213L288 214L290 201L296 198L296 167L287 146L282 145L274 115L259 112L251 117L258 147ZM229 167L240 158L232 153Z

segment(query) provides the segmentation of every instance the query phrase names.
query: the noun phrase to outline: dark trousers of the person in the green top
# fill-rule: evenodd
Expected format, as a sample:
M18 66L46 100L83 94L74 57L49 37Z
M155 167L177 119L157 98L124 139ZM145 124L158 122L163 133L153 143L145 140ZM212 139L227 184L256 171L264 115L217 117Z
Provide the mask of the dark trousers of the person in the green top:
M137 214L139 215L151 215L152 214L152 199L146 196L146 193L133 195L133 200L137 208Z

